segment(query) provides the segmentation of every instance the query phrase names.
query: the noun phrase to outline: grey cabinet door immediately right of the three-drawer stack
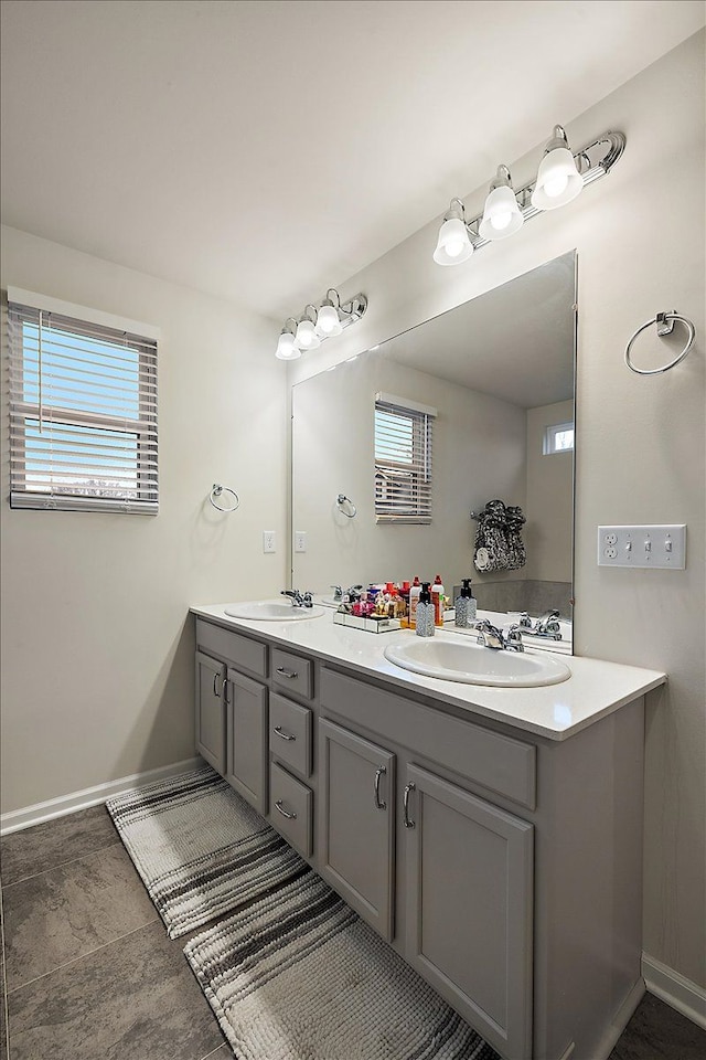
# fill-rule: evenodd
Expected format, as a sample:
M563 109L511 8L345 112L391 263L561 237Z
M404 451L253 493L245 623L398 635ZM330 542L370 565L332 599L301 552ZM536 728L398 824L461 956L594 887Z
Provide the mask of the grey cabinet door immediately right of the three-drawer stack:
M319 733L321 876L389 941L395 755L323 719Z

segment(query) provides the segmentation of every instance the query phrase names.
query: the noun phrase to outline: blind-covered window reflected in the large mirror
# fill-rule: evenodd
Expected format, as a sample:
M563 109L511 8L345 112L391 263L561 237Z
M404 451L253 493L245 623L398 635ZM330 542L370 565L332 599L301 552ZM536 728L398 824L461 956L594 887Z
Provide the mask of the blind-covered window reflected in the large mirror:
M436 409L375 395L377 522L431 522L431 432Z

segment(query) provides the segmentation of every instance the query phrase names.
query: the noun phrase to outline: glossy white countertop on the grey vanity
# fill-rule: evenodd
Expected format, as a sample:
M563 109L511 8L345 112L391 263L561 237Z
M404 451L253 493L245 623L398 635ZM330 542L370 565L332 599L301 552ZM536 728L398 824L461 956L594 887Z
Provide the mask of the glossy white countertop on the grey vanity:
M362 675L377 678L397 691L415 690L451 703L473 714L493 718L550 740L565 740L605 718L644 692L665 683L666 675L620 662L603 662L577 656L557 655L571 676L560 685L538 688L492 688L442 681L403 670L383 655L386 645L416 636L411 629L373 634L333 624L333 610L324 608L319 618L297 622L253 622L225 614L226 604L194 606L192 614L215 621L220 626L249 633L307 654L339 662ZM447 632L437 636L458 637ZM528 654L534 648L525 648ZM546 650L546 648L543 648Z

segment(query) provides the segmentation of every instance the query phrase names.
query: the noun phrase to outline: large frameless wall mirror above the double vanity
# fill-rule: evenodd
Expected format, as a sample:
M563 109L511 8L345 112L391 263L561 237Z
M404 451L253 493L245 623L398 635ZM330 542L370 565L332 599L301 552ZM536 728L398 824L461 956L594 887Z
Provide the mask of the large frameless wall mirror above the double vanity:
M303 532L306 551L293 552L292 585L327 594L439 573L450 595L470 576L479 608L556 608L571 619L574 451L563 446L573 438L575 305L571 252L297 383L292 540ZM395 405L409 409L408 424ZM430 456L425 417L430 512L391 518L415 489L418 500L419 468L405 462ZM392 473L379 466L385 438ZM480 572L471 513L496 499L524 513L526 560Z

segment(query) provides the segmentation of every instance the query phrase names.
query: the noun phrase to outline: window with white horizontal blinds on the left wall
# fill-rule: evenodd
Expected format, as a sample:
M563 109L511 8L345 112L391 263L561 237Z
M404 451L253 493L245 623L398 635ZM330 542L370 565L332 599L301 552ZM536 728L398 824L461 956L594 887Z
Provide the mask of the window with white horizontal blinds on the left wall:
M156 338L28 292L8 300L11 506L157 515Z

